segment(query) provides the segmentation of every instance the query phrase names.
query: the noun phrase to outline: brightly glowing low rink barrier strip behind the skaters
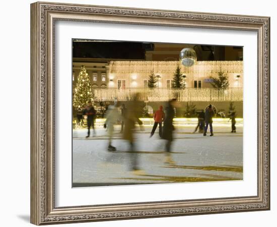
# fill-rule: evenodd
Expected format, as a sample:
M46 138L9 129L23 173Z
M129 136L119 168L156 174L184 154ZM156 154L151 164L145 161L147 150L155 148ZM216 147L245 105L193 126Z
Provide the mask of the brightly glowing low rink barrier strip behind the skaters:
M143 122L144 125L153 125L154 119L153 118L140 118L140 120ZM103 128L104 123L106 119L96 119L95 121L95 127L96 128ZM86 126L86 121L85 126ZM179 126L189 126L189 125L197 125L198 119L197 118L174 118L173 124L179 125ZM73 128L75 128L76 120L73 122ZM118 121L118 124L120 125L120 121ZM213 119L213 125L214 126L226 126L231 125L231 120L229 118L214 118ZM243 125L243 119L242 118L236 118L236 126L242 126Z

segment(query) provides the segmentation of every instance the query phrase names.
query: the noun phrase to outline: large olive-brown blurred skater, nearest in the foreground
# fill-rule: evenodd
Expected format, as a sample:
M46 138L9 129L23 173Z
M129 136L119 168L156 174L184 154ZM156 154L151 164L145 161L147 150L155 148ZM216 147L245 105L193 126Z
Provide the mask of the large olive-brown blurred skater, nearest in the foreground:
M138 119L140 116L140 105L138 103L138 93L134 95L132 101L130 101L130 105L125 112L125 127L123 130L123 139L127 140L129 143L129 151L130 151L130 170L133 171L134 174L140 174L142 171L138 165L137 153L135 151L135 144L133 138L133 131L135 128L135 123L137 122L141 130L143 122Z

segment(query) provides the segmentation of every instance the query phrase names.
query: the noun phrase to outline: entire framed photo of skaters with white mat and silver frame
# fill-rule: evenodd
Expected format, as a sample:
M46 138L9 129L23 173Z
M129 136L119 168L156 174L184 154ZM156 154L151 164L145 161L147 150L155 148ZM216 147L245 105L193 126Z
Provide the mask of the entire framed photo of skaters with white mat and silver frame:
M268 210L269 29L31 4L31 222Z

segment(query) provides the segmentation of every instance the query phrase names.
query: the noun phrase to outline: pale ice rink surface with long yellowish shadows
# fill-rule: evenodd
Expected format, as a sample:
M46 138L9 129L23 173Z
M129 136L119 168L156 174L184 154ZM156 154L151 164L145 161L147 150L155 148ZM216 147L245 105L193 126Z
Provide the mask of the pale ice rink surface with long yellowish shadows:
M96 129L96 135L90 138L85 138L87 129L74 130L73 186L242 180L242 125L237 126L237 133L230 132L230 125L215 125L213 137L209 130L205 137L193 134L194 127L176 127L171 153L175 163L170 165L165 164L165 140L159 138L158 128L149 138L152 126L145 126L145 131L137 127L135 154L121 139L120 126L115 126L115 152L107 150L105 129ZM144 173L135 175L130 171L132 155L137 156Z

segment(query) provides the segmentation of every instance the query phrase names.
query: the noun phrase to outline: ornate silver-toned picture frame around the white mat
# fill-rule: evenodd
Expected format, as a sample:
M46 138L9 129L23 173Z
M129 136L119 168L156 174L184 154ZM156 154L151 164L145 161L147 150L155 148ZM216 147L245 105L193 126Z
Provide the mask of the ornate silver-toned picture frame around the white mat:
M257 32L257 195L57 207L55 23L78 21ZM31 4L31 223L150 218L270 209L270 18L38 2ZM247 149L245 147L244 149ZM70 173L68 173L70 174Z

